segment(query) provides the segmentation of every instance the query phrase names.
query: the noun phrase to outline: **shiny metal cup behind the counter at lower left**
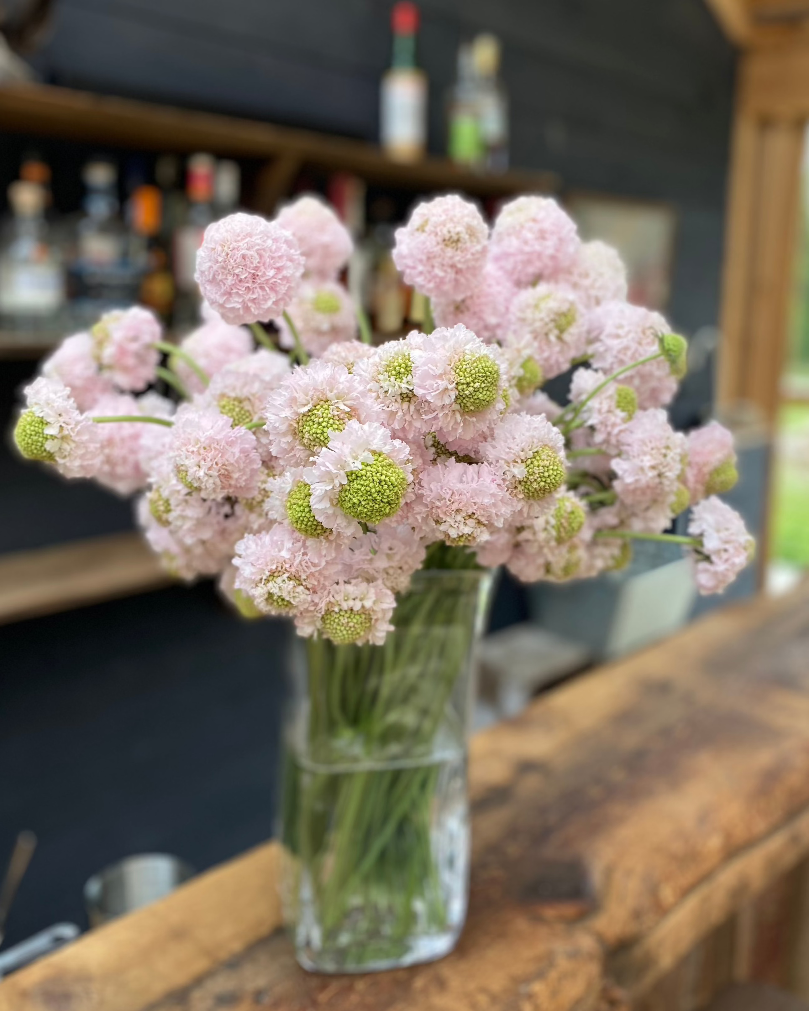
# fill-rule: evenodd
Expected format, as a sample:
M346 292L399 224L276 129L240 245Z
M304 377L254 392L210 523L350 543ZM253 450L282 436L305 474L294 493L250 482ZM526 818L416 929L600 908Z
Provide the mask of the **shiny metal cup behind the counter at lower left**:
M84 886L84 905L91 927L131 913L169 895L193 878L194 870L168 853L142 853L113 863Z

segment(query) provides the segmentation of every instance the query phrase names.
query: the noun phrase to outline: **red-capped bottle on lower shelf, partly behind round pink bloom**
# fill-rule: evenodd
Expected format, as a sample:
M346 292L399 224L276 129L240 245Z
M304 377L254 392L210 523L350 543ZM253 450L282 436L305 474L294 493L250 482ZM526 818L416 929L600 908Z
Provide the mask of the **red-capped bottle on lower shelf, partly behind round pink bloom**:
M188 159L185 177L188 216L174 234L174 280L177 285L174 321L181 327L191 325L198 316L199 291L194 280L196 253L202 245L205 228L214 219L215 168L212 155L198 154Z

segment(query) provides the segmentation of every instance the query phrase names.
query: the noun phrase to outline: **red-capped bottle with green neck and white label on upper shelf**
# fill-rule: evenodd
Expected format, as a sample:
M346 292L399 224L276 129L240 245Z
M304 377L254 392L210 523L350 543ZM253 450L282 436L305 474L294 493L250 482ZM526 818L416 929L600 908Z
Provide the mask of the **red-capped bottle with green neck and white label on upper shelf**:
M397 162L417 162L427 147L427 76L416 64L419 8L393 5L393 59L382 77L380 134L382 148Z

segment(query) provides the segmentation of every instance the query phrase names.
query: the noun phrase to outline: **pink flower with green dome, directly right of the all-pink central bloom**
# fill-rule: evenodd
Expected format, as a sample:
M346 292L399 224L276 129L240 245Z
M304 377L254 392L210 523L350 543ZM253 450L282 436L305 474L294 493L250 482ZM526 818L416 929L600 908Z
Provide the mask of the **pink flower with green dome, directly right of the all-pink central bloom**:
M480 452L519 500L537 502L564 484L564 438L542 415L507 415Z

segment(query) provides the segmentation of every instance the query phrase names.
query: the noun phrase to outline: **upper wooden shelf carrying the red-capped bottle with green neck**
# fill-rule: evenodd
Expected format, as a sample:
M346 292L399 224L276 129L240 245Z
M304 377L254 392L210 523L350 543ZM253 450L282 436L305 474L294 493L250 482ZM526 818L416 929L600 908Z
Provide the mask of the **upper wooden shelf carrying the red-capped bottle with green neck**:
M369 182L416 191L456 189L476 196L547 192L559 186L550 172L474 173L440 158L401 165L362 141L39 84L0 88L0 129L150 151L202 150L272 159L263 180L264 202L271 202L274 191L282 193L303 165L354 172Z

